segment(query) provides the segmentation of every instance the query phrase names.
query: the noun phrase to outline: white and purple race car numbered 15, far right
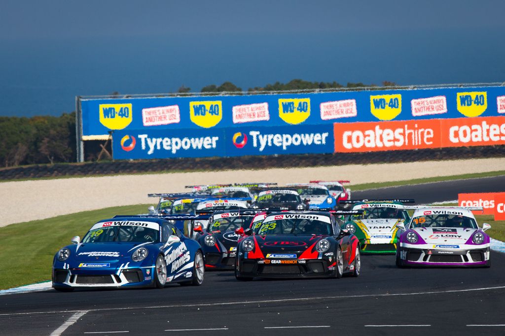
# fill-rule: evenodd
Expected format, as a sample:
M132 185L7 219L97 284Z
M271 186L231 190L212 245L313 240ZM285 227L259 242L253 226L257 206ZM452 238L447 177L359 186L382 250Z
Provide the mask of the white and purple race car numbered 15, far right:
M399 236L396 265L489 266L489 236L471 210L482 208L433 207L417 209Z

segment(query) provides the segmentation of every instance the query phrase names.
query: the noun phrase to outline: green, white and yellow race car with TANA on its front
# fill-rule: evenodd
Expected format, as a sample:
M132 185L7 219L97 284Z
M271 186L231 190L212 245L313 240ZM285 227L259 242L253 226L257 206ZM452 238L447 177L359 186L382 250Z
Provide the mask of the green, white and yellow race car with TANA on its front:
M352 210L363 210L362 215L349 216L341 225L358 237L363 254L396 253L396 225L410 220L402 203L413 203L413 199L344 202L356 202Z

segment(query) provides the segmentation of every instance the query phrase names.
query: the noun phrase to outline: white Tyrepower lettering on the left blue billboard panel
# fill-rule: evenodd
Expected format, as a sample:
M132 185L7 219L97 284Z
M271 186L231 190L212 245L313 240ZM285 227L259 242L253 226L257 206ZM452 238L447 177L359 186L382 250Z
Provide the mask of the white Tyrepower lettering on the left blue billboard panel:
M187 151L201 150L201 149L216 149L219 137L200 137L200 138L148 138L146 134L139 134L142 150L145 151L147 147L147 155L151 155L155 150L171 151L172 154L177 153L179 150Z

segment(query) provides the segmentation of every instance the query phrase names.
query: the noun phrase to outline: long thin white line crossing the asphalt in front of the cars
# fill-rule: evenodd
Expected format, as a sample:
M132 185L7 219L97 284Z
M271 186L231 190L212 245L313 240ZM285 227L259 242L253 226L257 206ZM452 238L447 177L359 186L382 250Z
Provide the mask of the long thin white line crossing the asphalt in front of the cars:
M235 302L216 302L216 303L195 303L195 304L174 304L165 306L146 306L146 307L123 307L123 308L98 308L89 309L87 311L111 311L111 310L135 310L135 309L160 309L160 308L184 308L184 307L211 307L211 306L227 306L237 304L257 304L257 303L277 303L277 302L297 302L297 301L315 301L315 300L328 300L328 299L350 299L350 298L371 298L371 297L387 297L387 296L411 296L411 295L430 295L430 294L446 294L446 293L462 293L462 292L475 292L475 291L489 291L493 289L505 289L505 286L497 287L484 287L472 289L458 289L449 291L438 292L419 292L419 293L397 293L397 294L366 294L366 295L342 295L342 296L325 296L325 297L309 297L309 298L296 298L296 299L278 299L278 300L258 300L258 301L235 301ZM61 314L61 313L75 313L81 310L53 310L53 311L34 311L26 313L8 313L0 314L0 316L14 316L14 315L32 315L32 314Z

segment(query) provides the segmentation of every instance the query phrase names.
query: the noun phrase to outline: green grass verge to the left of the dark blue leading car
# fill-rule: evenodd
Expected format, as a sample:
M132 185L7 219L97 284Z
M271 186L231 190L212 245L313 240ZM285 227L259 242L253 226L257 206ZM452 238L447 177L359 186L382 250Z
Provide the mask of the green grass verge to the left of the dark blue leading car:
M51 280L53 257L99 220L145 213L149 205L113 207L0 228L0 289Z

